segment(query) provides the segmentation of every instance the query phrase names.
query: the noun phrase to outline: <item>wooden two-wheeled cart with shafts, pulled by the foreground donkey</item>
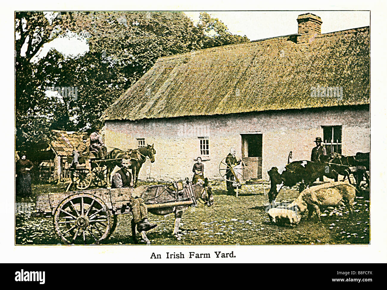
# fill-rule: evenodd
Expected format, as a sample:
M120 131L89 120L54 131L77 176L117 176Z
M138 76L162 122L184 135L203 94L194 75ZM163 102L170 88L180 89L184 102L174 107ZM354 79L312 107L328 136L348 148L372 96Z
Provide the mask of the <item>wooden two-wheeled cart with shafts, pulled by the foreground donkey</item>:
M154 187L166 188L165 185L143 185L137 188L39 193L34 216L53 217L55 231L66 244L99 244L115 230L117 215L131 214L128 198L139 197L148 188ZM185 196L162 204L148 200L146 204L148 209L196 204L192 195Z

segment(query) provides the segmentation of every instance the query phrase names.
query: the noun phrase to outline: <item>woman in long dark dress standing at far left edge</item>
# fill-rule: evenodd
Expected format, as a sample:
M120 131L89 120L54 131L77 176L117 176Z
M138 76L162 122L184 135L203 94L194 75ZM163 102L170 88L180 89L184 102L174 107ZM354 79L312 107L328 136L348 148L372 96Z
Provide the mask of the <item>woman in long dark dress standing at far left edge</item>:
M18 153L20 159L16 161L16 194L20 196L31 196L31 175L33 167L31 161L26 159L26 153Z

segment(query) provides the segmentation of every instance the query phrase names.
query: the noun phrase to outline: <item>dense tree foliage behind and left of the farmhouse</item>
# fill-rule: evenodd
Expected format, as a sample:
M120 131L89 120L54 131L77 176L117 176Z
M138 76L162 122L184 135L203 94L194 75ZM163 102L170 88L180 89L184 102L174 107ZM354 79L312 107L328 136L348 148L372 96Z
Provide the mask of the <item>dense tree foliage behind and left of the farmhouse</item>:
M33 61L70 32L86 39L89 51L68 57L51 49ZM24 148L51 129L91 129L162 56L248 41L207 13L195 26L182 12L58 12L51 21L43 12L16 12L15 33L16 138ZM51 86L76 87L77 97L46 94Z

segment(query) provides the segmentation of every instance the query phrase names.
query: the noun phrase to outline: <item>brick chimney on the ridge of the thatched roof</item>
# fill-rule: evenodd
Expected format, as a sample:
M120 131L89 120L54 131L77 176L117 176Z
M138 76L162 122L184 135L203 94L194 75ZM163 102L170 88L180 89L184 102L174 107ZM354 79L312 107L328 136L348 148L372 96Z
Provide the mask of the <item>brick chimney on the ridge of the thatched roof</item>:
M307 39L315 36L316 34L321 34L321 18L312 13L305 13L298 15L298 37L297 43L305 42Z

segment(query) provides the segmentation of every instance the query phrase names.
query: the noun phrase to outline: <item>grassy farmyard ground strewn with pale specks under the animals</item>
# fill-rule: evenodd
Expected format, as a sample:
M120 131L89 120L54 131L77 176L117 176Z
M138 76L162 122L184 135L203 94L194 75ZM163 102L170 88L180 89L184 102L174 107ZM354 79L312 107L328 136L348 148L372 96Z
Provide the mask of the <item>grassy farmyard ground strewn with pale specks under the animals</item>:
M59 192L65 185L33 185L33 192ZM321 224L315 214L311 221L304 215L295 227L271 224L265 212L268 205L262 185L244 185L239 197L226 195L225 182L212 183L214 205L190 207L183 214L180 230L182 239L171 236L174 214L149 214L149 220L158 227L147 232L152 244L368 244L370 242L370 202L355 199L355 214L349 218L348 209L328 208L322 211ZM269 185L265 185L265 192ZM291 202L298 196L296 190L281 190L277 202ZM17 198L17 202L31 202L35 197ZM104 244L133 244L130 232L131 215L119 215L113 235ZM52 218L16 214L16 244L62 243L53 227Z

